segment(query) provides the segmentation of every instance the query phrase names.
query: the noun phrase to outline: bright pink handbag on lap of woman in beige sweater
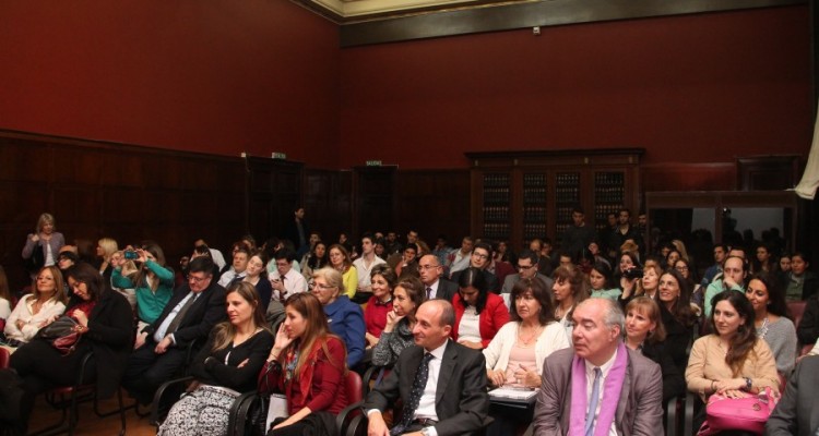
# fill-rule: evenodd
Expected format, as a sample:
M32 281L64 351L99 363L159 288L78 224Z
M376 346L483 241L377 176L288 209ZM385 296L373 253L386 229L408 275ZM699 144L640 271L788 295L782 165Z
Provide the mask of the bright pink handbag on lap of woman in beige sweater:
M712 395L705 405L705 422L698 436L710 436L723 431L745 431L761 435L765 421L779 402L779 397L764 388L757 395L746 398L727 398Z

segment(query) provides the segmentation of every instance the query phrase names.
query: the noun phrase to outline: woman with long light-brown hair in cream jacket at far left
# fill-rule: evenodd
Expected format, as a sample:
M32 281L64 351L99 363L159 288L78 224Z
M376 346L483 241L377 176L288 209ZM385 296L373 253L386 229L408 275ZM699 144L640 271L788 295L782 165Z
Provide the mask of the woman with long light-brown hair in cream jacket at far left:
M28 342L50 319L66 312L68 293L60 268L54 265L44 267L34 284L34 291L23 295L5 319L3 332L7 339Z

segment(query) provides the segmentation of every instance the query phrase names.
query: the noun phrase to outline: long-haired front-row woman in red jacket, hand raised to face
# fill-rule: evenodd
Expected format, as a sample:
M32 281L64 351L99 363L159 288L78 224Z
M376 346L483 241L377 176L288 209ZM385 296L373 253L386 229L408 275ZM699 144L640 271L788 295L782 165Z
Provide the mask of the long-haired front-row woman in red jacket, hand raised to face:
M321 434L317 426L336 434L334 415L347 405L346 362L344 342L330 332L319 300L308 292L287 298L284 323L259 375L259 390L283 392L289 415L273 421L268 436L300 436L308 428Z

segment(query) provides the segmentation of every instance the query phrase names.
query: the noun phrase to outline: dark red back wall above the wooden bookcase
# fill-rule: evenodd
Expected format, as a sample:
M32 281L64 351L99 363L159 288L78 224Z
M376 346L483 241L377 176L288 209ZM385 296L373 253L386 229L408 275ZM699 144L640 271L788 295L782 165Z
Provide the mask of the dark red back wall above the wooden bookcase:
M646 164L807 156L809 56L804 5L344 49L341 166L574 147L644 147Z

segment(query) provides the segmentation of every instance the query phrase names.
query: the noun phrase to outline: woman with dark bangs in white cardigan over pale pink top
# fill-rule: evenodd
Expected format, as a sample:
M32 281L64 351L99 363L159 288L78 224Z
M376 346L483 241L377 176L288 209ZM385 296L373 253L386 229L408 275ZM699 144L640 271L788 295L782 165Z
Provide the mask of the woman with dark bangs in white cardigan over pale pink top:
M511 322L484 349L486 376L496 387L539 387L544 359L571 344L541 279L517 282L510 300Z

